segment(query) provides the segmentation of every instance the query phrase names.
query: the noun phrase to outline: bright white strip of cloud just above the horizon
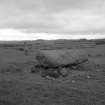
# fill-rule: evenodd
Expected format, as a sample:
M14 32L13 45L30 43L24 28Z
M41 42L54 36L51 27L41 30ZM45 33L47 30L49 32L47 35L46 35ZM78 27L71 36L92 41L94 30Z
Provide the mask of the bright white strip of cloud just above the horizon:
M11 40L56 40L56 39L99 39L105 38L105 35L98 34L52 34L52 33L25 33L17 29L0 29L0 41Z

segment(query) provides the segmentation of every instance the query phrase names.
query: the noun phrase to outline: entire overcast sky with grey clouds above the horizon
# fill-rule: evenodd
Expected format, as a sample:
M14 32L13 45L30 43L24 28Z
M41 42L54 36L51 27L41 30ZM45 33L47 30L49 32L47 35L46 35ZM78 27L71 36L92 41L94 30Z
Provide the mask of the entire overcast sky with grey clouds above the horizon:
M105 38L105 0L0 0L0 40Z

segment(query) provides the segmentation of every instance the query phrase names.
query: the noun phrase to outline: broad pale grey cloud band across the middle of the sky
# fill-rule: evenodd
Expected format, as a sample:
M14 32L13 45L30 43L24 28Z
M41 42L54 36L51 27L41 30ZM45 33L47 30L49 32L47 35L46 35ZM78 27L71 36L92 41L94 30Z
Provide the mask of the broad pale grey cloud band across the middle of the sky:
M28 13L1 22L3 28L26 29L32 32L72 33L104 31L105 16L91 11L65 10L59 13Z

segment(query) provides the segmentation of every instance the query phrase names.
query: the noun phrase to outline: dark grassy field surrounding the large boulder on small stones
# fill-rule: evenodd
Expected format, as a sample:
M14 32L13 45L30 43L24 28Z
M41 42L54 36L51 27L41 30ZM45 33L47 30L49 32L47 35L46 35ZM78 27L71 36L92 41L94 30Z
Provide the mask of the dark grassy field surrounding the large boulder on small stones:
M91 70L70 70L68 77L55 80L31 73L35 47L28 55L19 48L0 47L0 105L105 105L104 44L79 48L89 55Z

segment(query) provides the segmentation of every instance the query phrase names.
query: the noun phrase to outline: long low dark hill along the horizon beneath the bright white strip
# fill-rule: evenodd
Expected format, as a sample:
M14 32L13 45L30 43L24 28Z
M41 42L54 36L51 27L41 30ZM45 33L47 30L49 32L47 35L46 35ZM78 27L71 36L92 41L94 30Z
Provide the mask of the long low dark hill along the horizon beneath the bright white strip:
M34 41L2 41L1 47L32 47L34 49L72 49L72 48L90 48L94 47L101 40L34 40Z

